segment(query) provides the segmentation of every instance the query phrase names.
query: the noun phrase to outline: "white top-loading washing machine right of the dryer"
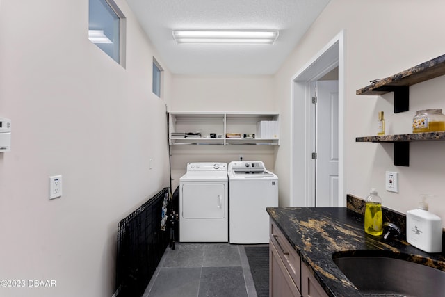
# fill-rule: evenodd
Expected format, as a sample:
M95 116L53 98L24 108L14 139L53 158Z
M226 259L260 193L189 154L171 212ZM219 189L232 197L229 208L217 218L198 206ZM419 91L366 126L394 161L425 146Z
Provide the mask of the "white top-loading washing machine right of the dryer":
M261 161L234 161L229 176L229 242L268 243L266 207L278 207L278 177Z

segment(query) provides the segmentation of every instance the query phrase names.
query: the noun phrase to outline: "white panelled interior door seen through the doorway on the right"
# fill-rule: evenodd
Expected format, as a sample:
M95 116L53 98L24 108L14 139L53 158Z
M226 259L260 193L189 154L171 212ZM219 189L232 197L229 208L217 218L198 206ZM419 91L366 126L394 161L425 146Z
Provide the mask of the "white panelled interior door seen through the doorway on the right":
M316 82L316 207L339 206L339 84Z

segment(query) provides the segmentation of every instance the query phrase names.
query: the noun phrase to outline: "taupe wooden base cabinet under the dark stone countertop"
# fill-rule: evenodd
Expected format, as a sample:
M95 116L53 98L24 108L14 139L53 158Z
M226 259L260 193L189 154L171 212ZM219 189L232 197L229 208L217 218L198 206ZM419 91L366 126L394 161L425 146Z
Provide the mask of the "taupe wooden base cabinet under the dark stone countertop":
M270 220L269 296L327 297L309 268L277 225Z

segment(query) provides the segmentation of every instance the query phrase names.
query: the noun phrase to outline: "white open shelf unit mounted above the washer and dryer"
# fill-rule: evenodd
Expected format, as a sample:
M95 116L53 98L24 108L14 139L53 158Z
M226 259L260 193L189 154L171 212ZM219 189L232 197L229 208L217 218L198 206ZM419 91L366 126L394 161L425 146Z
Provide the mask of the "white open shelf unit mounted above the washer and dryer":
M170 145L280 144L279 113L170 112L168 119ZM270 129L259 131L258 122Z

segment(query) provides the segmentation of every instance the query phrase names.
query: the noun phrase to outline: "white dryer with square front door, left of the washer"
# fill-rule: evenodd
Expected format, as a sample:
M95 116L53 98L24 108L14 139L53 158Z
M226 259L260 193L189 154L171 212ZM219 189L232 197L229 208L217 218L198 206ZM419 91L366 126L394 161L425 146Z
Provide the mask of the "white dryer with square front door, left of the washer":
M227 163L188 163L179 179L179 241L229 241Z

